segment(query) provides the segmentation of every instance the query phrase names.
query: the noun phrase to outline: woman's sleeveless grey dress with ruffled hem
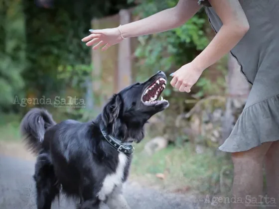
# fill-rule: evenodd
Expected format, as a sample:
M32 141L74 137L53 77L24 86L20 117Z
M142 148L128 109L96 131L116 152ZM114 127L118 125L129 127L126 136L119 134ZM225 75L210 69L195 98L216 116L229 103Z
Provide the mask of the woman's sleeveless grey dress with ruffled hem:
M220 150L246 151L264 142L279 140L279 0L239 0L250 29L231 50L252 89L230 136ZM222 22L207 0L205 6L213 29ZM228 40L230 41L230 40Z

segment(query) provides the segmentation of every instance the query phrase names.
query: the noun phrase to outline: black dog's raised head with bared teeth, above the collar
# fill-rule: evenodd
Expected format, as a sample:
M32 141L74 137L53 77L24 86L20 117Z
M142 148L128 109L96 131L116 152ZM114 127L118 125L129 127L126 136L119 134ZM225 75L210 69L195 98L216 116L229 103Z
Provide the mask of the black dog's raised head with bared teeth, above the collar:
M102 112L102 121L110 134L123 142L139 143L147 120L169 105L160 99L165 85L166 76L159 71L144 83L133 84L115 94Z

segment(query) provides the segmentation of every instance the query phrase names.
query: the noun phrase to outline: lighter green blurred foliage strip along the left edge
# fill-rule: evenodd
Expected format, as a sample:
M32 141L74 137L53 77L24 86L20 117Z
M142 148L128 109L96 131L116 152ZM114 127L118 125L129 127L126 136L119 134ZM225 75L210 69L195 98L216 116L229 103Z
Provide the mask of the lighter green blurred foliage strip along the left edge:
M25 68L25 31L19 0L0 0L0 107L10 110L15 95L22 94Z

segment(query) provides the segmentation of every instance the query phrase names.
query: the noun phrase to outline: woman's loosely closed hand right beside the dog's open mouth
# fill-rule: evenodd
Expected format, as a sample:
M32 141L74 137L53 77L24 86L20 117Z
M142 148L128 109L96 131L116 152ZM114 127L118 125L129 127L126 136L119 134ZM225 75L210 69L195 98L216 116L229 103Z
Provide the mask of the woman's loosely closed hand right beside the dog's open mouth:
M172 80L170 84L175 87L179 92L191 91L192 86L198 81L203 70L198 69L193 63L183 65L180 69L170 74Z

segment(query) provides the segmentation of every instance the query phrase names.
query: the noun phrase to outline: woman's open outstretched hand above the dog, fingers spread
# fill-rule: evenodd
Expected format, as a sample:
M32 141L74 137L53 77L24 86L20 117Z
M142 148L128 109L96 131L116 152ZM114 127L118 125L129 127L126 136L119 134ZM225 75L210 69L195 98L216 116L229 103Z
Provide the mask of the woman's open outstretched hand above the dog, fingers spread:
M89 30L91 34L81 39L83 42L87 42L87 46L93 46L93 49L99 49L104 46L102 50L107 50L110 46L120 43L123 38L120 30L116 28L107 28L100 30Z

